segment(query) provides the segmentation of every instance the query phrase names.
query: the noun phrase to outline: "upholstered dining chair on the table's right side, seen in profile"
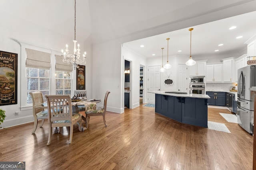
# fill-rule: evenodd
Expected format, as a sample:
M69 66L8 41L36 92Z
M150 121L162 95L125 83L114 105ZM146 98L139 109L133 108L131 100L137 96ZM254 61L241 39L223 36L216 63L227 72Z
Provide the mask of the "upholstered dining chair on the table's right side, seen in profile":
M106 92L106 95L105 95L105 98L104 98L103 108L98 107L98 108L96 108L96 110L85 111L85 115L86 115L86 117L85 117L85 127L86 127L86 129L89 126L90 116L102 116L104 125L105 125L105 127L107 127L106 120L105 120L105 113L106 113L106 109L107 109L108 94L110 94L109 91Z

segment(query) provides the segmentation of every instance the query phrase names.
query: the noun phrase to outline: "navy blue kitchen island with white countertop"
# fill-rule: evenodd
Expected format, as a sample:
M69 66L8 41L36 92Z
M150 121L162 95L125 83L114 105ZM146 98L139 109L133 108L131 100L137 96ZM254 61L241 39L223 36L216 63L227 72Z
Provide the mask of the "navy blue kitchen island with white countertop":
M208 127L208 95L173 94L153 91L155 111L166 117L200 127Z

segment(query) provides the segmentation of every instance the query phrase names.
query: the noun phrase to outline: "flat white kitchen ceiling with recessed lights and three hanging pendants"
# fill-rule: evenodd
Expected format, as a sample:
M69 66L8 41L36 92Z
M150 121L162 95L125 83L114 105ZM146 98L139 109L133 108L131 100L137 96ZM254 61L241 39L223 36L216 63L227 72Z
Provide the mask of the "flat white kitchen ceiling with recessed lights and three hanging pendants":
M245 42L256 34L256 11L231 18L226 18L202 25L191 25L191 55L192 58L212 55L224 55L228 53L241 53L246 50ZM231 26L236 26L230 30ZM138 39L124 43L124 47L144 57L167 56L167 40L169 40L168 55L190 56L190 27L172 31L144 39ZM238 36L243 36L236 39ZM218 46L223 44L222 46ZM144 47L140 47L144 45ZM181 50L181 52L178 52ZM219 50L219 51L215 51ZM155 56L152 56L155 54ZM239 57L239 56L236 56Z

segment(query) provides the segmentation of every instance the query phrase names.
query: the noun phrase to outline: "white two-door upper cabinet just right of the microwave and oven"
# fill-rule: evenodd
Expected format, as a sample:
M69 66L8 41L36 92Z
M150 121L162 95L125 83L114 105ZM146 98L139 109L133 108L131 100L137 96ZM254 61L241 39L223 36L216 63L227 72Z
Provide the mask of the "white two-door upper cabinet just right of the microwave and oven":
M206 65L206 82L222 82L222 64Z

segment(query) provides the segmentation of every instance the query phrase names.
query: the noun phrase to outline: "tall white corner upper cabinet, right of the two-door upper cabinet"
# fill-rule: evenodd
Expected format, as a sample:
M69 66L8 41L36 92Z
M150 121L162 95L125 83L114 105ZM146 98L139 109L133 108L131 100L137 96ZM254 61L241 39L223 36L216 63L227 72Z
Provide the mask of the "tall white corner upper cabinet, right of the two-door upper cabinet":
M223 59L223 82L235 82L233 59Z

